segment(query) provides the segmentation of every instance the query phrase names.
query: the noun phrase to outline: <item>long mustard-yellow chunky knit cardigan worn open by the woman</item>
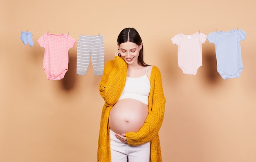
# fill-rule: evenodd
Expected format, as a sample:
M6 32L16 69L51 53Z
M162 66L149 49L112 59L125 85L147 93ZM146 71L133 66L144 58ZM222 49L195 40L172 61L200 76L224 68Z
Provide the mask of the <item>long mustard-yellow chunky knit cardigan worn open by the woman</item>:
M115 60L106 62L99 91L105 104L101 113L101 123L98 140L98 162L111 162L110 153L110 129L108 118L110 110L118 101L126 83L127 64L119 56ZM153 66L150 75L150 93L148 97L148 116L141 129L126 133L129 145L138 146L150 142L151 162L162 162L159 129L164 119L166 99L162 88L162 78L159 69Z

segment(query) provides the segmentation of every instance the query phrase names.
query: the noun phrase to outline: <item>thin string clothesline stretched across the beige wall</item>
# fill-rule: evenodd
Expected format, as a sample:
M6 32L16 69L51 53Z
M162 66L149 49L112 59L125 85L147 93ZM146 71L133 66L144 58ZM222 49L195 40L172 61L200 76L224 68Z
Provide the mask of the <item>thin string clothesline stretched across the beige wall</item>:
M49 32L49 31L45 31L45 32L39 32L39 31L31 31L31 30L29 30L29 29L27 29L27 30L20 30L20 29L11 29L11 28L0 28L1 30L13 30L13 31L29 31L29 32L31 32L31 33L40 33L40 34L44 34L44 33L47 33L47 32ZM232 29L236 29L236 28L232 28ZM243 28L243 30L247 30L247 29L256 29L256 27L250 27L250 28ZM217 31L220 31L220 30L218 30L218 28L216 28L216 30ZM216 31L216 30L213 30L213 31ZM228 29L228 30L231 30L231 29ZM228 31L227 30L227 31ZM201 30L198 30L198 31L195 31L195 32L199 32L200 31L200 33L204 33L204 34L209 34L209 33L212 33L213 31L207 31L207 32L202 32ZM223 31L223 30L221 30L221 31ZM195 33L194 32L194 33ZM50 32L49 32L50 33ZM141 34L141 36L162 36L162 35L167 35L167 36L175 36L175 35L177 35L178 33L183 33L182 31L177 31L177 33L164 33L164 34ZM183 34L185 34L185 35L189 35L189 34L194 34L194 33L183 33ZM74 37L77 37L77 36L80 36L81 34L83 34L83 33L79 33L79 35L73 35L73 34L70 34L70 32L69 31L67 31L67 34L68 35L70 35L70 36L74 36ZM102 33L98 33L99 35L104 35L104 36L108 36L108 34L102 34ZM95 33L95 35L98 35L98 34L96 34ZM83 35L86 35L86 34L83 34Z

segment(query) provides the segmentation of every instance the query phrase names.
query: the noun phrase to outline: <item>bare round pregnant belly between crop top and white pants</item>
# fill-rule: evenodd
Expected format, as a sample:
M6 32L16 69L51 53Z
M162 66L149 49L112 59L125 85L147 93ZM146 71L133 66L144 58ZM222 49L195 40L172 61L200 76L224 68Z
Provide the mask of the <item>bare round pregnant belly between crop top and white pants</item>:
M118 134L137 132L148 115L148 105L134 99L117 101L109 114L109 127Z

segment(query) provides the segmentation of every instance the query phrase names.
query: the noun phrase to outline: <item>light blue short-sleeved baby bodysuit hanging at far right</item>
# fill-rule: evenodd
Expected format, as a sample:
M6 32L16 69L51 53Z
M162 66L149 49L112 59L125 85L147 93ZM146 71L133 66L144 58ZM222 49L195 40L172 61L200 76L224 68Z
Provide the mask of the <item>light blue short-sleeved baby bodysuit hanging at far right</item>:
M208 35L207 40L215 44L217 71L223 79L239 78L243 70L240 41L247 33L239 29L217 31Z

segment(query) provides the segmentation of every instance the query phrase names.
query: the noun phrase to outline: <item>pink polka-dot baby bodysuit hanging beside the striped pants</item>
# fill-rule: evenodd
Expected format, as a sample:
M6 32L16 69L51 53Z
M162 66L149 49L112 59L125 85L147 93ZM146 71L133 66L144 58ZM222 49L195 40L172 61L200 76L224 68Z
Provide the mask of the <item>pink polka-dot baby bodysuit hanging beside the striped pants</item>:
M45 33L37 42L45 48L43 70L48 80L61 80L68 70L68 50L76 40L67 34Z

